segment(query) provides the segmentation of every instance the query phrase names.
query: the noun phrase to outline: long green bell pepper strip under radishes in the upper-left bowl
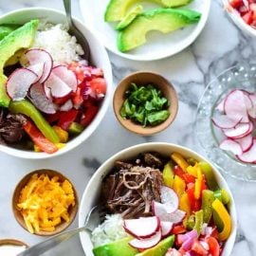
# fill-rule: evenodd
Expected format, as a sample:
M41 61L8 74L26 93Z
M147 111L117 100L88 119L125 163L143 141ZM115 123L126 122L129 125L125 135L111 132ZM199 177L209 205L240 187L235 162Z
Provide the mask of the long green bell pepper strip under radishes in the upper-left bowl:
M53 143L59 143L60 138L49 125L42 114L34 107L32 103L27 100L23 101L10 101L9 111L13 114L24 114L33 120L41 133Z

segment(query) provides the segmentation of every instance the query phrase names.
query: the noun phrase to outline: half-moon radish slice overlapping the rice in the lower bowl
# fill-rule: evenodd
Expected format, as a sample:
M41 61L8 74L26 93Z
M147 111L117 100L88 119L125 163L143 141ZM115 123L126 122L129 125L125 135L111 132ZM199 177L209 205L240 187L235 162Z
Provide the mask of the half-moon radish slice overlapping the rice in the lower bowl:
M137 238L151 237L160 227L158 217L145 217L139 219L124 220L123 228Z

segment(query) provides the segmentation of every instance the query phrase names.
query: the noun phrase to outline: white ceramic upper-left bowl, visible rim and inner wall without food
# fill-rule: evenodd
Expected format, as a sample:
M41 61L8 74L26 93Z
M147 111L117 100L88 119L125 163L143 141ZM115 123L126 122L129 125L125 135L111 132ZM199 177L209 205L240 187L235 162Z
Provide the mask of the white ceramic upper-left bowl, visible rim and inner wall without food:
M44 8L29 8L29 9L18 9L11 11L0 17L0 24L25 24L31 19L44 19L49 23L58 24L65 23L65 15L63 12L54 10L54 9L44 9ZM107 55L106 50L101 45L99 40L94 36L94 34L88 30L86 27L82 25L82 23L74 19L76 26L82 31L82 34L88 40L90 49L91 49L91 57L93 63L101 67L104 72L104 77L107 82L107 92L104 100L101 103L101 109L97 114L97 117L90 123L90 125L84 129L81 135L73 138L69 142L67 142L66 146L63 149L60 149L58 152L49 155L46 153L35 153L32 151L24 151L18 150L11 147L0 145L0 151L5 152L9 155L14 155L22 158L29 159L42 159L49 158L56 155L62 155L71 149L74 149L78 145L80 145L86 138L88 138L100 125L101 119L104 117L107 107L110 103L111 95L112 95L112 69L111 64Z

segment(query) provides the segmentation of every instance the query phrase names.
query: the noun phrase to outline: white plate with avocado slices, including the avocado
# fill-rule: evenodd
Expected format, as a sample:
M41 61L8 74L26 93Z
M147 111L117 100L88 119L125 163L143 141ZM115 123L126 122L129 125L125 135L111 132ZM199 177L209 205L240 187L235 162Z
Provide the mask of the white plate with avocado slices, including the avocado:
M206 24L210 0L81 0L85 26L121 57L153 61L190 46Z

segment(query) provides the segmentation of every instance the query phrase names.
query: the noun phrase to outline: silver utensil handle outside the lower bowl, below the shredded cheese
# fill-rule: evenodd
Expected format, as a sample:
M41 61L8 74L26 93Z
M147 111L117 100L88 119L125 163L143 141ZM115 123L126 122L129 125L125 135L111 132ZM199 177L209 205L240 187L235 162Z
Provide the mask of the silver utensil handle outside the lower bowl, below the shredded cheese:
M17 254L17 256L35 256L35 255L41 255L50 248L56 247L62 242L68 240L72 236L76 235L77 233L86 230L85 227L77 228L77 229L71 229L68 231L65 231L63 233L57 234L52 236L51 238L47 239L46 241L39 243L33 247L27 248L25 251Z

